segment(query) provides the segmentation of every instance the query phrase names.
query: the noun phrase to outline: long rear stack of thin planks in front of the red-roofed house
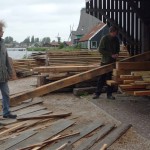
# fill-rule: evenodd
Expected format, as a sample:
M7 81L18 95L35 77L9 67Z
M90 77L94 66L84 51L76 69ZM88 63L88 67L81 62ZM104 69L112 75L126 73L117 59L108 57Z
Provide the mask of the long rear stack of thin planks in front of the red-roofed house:
M122 50L119 59L126 58L129 53ZM73 51L73 52L47 52L47 65L95 65L100 63L100 53L98 51Z

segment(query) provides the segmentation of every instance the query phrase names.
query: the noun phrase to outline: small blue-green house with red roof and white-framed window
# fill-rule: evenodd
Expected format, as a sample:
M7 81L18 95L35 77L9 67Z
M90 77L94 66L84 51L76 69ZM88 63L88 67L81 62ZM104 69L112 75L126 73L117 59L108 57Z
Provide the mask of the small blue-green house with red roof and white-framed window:
M100 39L107 34L109 27L104 23L96 25L89 33L85 34L80 40L81 48L83 49L97 49Z

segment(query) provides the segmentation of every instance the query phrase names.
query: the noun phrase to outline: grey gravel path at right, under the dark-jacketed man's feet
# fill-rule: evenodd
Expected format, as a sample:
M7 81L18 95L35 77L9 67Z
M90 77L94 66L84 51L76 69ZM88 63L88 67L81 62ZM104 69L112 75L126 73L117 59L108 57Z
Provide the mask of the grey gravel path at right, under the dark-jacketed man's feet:
M150 139L150 97L116 94L116 100L107 100L102 94L97 100L88 99L121 122L130 123L143 137Z

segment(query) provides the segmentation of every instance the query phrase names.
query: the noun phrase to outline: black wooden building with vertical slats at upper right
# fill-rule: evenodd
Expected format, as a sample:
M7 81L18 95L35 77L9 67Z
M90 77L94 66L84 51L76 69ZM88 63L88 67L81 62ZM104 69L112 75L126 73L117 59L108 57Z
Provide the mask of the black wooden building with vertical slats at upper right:
M131 55L150 51L150 0L86 0L86 12L117 26Z

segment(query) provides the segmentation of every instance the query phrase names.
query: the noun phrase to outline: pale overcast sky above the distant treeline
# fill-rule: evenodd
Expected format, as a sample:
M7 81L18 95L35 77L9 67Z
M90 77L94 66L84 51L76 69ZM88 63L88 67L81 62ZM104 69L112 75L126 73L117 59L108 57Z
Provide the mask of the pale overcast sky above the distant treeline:
M1 0L0 20L6 22L4 37L21 42L34 35L68 40L70 25L78 27L85 0Z

